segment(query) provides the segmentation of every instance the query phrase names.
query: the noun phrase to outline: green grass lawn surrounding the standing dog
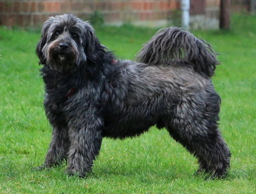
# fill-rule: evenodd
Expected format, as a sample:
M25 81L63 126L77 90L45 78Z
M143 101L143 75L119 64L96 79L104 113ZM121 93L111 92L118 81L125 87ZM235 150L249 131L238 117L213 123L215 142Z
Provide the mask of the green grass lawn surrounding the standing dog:
M102 44L134 59L157 29L96 27ZM193 31L218 52L213 83L222 97L220 130L232 152L225 180L195 176L196 159L165 130L138 138L104 139L93 172L67 177L65 165L33 168L44 161L51 127L42 108L43 82L37 32L0 27L1 194L254 194L256 193L256 17L232 17L230 31Z

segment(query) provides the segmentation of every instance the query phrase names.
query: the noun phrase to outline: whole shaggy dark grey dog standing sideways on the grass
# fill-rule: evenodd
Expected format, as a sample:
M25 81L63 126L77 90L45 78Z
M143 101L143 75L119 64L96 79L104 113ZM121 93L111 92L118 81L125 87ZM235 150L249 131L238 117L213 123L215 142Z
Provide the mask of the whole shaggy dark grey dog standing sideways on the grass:
M36 53L53 127L40 168L67 160L67 173L84 177L103 137L134 137L156 125L198 158L199 171L226 174L230 152L218 130L220 97L210 81L218 61L207 42L164 28L137 62L115 61L90 24L64 14L44 23Z

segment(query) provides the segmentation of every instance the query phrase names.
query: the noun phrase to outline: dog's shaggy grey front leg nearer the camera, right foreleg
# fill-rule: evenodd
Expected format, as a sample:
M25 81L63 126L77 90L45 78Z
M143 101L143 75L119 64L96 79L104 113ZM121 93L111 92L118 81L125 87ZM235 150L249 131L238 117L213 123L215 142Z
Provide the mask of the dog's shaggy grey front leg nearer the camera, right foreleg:
M92 113L89 113L92 114ZM91 171L93 160L99 154L103 121L90 115L86 118L74 118L69 122L70 148L67 173L84 177Z

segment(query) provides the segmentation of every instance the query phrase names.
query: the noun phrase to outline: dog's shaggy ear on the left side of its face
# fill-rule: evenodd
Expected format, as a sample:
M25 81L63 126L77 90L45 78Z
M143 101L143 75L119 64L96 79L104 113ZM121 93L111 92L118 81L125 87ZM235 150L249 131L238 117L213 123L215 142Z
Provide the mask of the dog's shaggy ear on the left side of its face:
M39 58L39 64L45 64L46 62L46 58L42 53L42 48L44 47L44 45L47 42L47 32L49 27L52 24L52 17L50 17L44 24L41 30L41 38L39 40L39 42L37 43L37 48L36 48L36 54Z

